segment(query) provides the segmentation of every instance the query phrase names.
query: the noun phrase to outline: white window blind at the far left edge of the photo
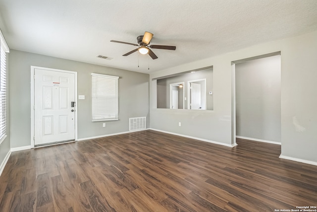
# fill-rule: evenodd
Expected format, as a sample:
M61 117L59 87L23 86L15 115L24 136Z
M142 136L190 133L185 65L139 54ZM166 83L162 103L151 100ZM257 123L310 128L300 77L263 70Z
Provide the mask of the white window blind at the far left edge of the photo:
M0 31L0 143L6 136L6 52L9 48Z

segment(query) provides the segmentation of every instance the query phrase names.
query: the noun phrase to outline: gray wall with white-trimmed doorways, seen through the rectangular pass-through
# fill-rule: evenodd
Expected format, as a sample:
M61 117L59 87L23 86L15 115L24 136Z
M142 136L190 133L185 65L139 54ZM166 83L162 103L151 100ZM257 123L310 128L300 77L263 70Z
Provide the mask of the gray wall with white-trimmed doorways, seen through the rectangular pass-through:
M213 95L209 95L209 91L213 91L213 74L212 69L196 71L195 73L184 73L178 76L172 76L157 80L157 108L169 108L169 84L184 82L184 97L187 97L187 82L196 79L206 78L206 95L207 110L213 110ZM183 92L181 90L181 92ZM187 98L188 99L188 98ZM182 101L182 99L179 99ZM182 106L183 102L181 102ZM187 100L184 101L184 109L187 109Z

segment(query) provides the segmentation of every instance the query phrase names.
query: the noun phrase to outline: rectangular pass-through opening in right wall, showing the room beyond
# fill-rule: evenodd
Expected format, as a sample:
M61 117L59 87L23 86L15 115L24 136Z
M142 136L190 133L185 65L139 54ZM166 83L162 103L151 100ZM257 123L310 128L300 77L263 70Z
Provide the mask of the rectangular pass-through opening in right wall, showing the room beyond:
M156 79L156 84L157 108L213 110L212 67L160 77Z

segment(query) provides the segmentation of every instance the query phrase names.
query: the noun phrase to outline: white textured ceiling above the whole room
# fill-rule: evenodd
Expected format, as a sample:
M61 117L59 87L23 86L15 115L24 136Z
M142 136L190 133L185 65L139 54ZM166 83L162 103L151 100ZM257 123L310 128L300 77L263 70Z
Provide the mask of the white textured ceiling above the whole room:
M317 0L0 0L0 29L10 49L150 73L315 31ZM145 31L176 50L110 42Z

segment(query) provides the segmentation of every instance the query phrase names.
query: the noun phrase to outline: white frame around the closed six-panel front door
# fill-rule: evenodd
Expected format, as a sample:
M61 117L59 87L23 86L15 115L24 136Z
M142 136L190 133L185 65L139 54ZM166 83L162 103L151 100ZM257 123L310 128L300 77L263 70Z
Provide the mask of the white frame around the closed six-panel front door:
M30 138L30 143L31 143L31 148L34 148L34 125L35 125L35 120L34 120L34 70L35 69L44 69L48 71L59 71L59 72L64 72L64 73L73 73L75 76L75 141L77 141L77 72L76 71L66 71L66 70L59 70L59 69L51 69L51 68L45 68L45 67L37 67L37 66L31 66L31 138Z

